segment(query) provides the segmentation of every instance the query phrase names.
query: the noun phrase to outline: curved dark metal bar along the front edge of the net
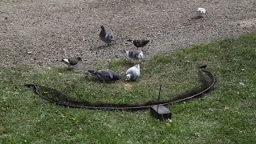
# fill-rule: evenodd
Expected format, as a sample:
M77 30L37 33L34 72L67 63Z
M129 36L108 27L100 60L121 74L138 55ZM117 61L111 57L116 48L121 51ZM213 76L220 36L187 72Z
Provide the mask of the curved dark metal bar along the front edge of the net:
M53 99L44 97L42 94L40 94L40 90L38 90L38 87L40 87L40 86L37 86L34 83L26 83L25 86L33 87L33 90L34 90L35 94L38 94L40 97L46 99L47 101L54 102L55 104L58 104L60 106L68 106L68 107L74 107L74 108L86 108L86 109L94 109L94 110L95 109L101 109L101 110L142 110L142 109L149 108L150 106L154 106L156 104L161 104L161 105L166 106L166 105L173 104L174 102L186 101L186 100L189 100L191 98L196 98L196 97L198 97L202 94L205 94L205 93L209 92L210 89L214 86L216 78L214 77L214 74L212 74L208 70L202 69L202 71L200 71L200 72L201 73L202 72L206 73L208 75L208 77L211 79L210 83L207 83L208 85L204 90L200 90L196 94L193 94L193 95L191 95L191 94L181 94L182 97L177 96L177 97L174 97L172 99L169 99L169 100L166 100L166 101L163 101L163 102L146 102L146 103L143 103L143 104L140 104L140 105L102 103L101 104L102 106L97 106L97 104L90 103L90 102L87 102L87 104L89 103L89 105L91 105L91 106L88 106L88 105L87 106L80 106L80 105L74 105L74 104L71 105L71 104L67 103L68 101L67 102L59 102L58 100L53 100ZM205 80L205 79L202 78L201 80ZM41 87L46 87L46 86L41 86ZM53 90L53 89L48 88L48 90ZM58 94L61 94L60 92L58 92L58 90L54 90L54 91L56 91ZM62 94L62 95L64 95L64 94ZM184 97L184 95L187 95L187 96ZM66 95L64 95L64 96L65 96L66 100L70 100L70 103L76 102L73 99L69 98L68 96L66 96ZM116 105L116 106L112 106L112 105ZM123 106L121 106L121 105L123 105Z

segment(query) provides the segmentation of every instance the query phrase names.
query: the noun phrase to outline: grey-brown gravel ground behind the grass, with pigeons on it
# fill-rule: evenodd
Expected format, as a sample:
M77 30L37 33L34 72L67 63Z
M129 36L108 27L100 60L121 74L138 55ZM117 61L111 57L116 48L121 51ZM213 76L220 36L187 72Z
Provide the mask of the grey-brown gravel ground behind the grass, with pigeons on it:
M195 19L198 7L204 18ZM99 28L117 38L106 46ZM81 56L78 69L122 58L134 49L128 38L149 38L145 57L196 42L256 31L255 0L2 0L0 66L66 66L62 58Z

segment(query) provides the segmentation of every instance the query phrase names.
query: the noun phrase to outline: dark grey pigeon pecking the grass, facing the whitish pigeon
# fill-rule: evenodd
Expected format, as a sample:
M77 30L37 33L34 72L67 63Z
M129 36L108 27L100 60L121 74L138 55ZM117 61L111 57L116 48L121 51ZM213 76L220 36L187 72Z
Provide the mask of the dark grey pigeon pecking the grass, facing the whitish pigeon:
M98 78L98 80L102 82L112 82L116 80L122 80L122 76L120 74L114 73L112 70L88 70L89 74ZM86 73L88 74L88 73Z

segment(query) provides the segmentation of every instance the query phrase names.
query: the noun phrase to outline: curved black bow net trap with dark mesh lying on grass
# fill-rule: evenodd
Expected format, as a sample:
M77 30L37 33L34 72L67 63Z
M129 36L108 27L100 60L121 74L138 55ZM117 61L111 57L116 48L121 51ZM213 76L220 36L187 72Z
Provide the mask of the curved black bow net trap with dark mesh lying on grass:
M91 102L86 99L86 95L83 95L82 98L72 97L58 90L47 86L38 86L34 83L26 83L25 86L30 87L34 90L35 94L38 94L41 98L46 99L49 102L60 106L68 106L73 108L87 108L87 109L106 109L106 110L141 110L149 108L157 104L166 106L174 102L182 102L189 100L190 98L198 97L202 94L205 94L210 91L214 86L215 77L210 71L201 68L198 70L198 85L192 90L186 90L182 94L171 94L172 90L167 90L170 93L166 93L163 100L157 100L157 94L154 94L154 98L146 102ZM164 88L165 85L162 85ZM158 89L157 89L158 90Z

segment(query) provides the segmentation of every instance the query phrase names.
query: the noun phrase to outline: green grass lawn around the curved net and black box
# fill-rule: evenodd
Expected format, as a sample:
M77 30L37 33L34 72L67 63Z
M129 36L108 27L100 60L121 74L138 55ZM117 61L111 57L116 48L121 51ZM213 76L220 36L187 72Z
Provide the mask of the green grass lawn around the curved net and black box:
M141 63L137 82L101 83L83 71L54 66L42 73L29 65L2 67L0 143L255 143L255 59L253 33L158 54ZM167 106L173 119L166 122L152 118L149 110L55 106L23 86L34 82L91 102L138 103L154 100L160 84L162 98L199 86L197 66L203 63L217 78L214 90ZM116 60L103 68L124 76L132 65Z

